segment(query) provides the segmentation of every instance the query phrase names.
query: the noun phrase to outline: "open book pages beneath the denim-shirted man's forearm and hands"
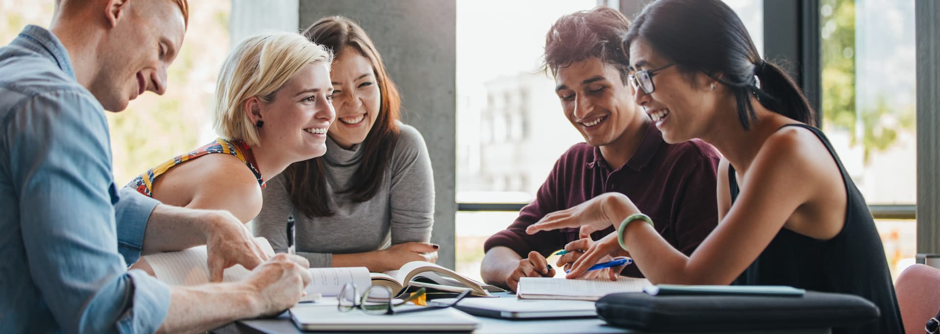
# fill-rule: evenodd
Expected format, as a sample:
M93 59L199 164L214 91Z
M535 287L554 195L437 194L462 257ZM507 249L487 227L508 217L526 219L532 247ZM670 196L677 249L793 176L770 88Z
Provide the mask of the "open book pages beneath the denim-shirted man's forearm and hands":
M274 256L274 248L268 240L262 237L255 238L258 246L268 256ZM183 249L180 251L146 255L144 260L153 268L153 274L169 285L198 285L209 282L209 256L205 246ZM250 272L241 264L226 269L223 281L238 281Z

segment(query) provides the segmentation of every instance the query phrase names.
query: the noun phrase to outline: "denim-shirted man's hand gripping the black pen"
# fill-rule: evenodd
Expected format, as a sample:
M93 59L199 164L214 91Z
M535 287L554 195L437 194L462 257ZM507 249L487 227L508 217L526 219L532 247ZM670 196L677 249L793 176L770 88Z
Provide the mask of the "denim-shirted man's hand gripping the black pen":
M296 305L312 279L309 267L305 258L283 253L258 265L244 280L257 292L258 313L274 315Z

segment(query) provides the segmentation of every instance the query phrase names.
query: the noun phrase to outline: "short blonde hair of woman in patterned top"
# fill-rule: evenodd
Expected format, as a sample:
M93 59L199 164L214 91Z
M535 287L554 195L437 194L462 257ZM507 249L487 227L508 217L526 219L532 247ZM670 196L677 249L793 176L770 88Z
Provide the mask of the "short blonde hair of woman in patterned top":
M276 32L243 40L228 55L215 87L215 132L225 139L260 143L258 128L248 118L244 103L258 97L263 103L307 64L323 62L327 69L333 53L297 33Z

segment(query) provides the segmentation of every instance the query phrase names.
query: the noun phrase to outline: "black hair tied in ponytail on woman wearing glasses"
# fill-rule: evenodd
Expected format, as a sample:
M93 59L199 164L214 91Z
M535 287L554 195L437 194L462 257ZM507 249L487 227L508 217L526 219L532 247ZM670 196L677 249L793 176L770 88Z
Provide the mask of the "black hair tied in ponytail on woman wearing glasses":
M741 19L720 0L652 2L634 20L623 50L639 39L678 64L681 72L704 72L729 87L744 130L757 121L752 94L777 114L817 126L801 89L787 72L760 59Z

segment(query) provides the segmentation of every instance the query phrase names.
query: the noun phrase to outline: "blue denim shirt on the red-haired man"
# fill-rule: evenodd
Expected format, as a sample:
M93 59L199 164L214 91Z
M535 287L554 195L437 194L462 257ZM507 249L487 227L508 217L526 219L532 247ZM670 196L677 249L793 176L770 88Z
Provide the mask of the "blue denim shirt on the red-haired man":
M4 332L155 331L169 288L127 263L157 203L118 193L102 105L50 31L26 26L0 48Z

